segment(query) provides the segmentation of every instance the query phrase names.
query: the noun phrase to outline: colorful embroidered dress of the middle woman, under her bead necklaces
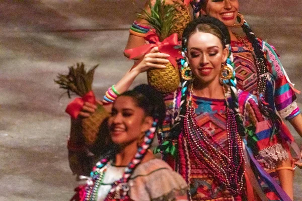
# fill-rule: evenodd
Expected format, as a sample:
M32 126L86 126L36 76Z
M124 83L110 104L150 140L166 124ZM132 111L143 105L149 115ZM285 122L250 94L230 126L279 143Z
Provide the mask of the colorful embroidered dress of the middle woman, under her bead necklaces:
M161 140L169 139L169 127L174 118L172 114L179 106L179 94L178 90L174 95L166 96L165 101L169 108L165 121L166 127L160 136ZM283 142L279 141L281 138L278 138L278 134L271 137L272 125L259 112L255 96L240 91L239 102L244 126L251 131L250 135L245 138L248 146L263 167L275 168L277 161L288 158L287 151L282 146ZM192 96L192 103L199 126L220 145L217 147L219 151L228 152L225 100ZM191 147L182 133L178 139L178 158L176 163L173 164L173 160L170 163L186 179L189 185L189 200L234 200L230 192L195 158L192 154L193 149L196 147ZM275 198L275 195L271 195L271 197ZM246 200L245 190L243 190L243 194L235 198L236 200Z

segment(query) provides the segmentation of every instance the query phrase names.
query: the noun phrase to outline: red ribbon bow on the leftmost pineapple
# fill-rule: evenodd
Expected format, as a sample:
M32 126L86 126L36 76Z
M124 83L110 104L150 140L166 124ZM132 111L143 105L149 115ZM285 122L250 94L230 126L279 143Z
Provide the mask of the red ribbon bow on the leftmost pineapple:
M89 91L83 97L74 98L66 107L65 112L70 115L71 118L77 119L85 102L96 104L96 97L93 91Z

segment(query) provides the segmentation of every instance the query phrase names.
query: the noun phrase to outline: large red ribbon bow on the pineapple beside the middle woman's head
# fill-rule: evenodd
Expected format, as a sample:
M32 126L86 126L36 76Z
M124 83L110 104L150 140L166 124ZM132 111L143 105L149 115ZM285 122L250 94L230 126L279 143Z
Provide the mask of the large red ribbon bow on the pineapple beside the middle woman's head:
M159 47L161 53L169 54L169 61L174 67L177 67L176 58L183 58L179 49L176 49L175 46L178 45L177 34L174 33L162 42L160 42L159 36L154 31L149 31L144 37L145 40L150 42L150 44L145 44L140 47L132 48L125 50L127 54L130 55L130 59L137 57L142 54L146 54L151 51L154 47Z

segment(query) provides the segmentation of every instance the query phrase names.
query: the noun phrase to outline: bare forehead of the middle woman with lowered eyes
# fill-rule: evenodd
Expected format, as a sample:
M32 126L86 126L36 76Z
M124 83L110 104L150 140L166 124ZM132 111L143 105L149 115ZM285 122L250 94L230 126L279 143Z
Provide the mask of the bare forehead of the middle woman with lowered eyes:
M210 33L196 32L189 37L188 48L208 48L211 46L218 46L222 48L220 39Z

